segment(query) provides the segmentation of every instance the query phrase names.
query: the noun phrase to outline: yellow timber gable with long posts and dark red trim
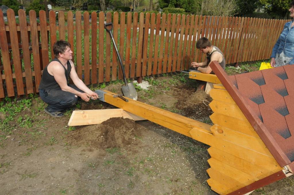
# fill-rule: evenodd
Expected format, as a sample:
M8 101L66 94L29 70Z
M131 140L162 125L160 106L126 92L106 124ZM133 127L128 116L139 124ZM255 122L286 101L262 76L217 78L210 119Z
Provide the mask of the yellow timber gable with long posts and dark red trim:
M293 175L293 163L279 152L273 140L264 137L265 127L256 122L258 117L242 96L230 95L232 90L234 93L238 90L236 92L233 85L225 82L223 75L226 74L219 74L222 70L218 63L211 64L218 77L195 72L190 72L189 76L216 83L209 93L213 99L209 104L213 110L212 126L127 97L126 102L113 97L116 94L109 91L95 92L102 101L211 146L207 182L218 194L250 194Z

